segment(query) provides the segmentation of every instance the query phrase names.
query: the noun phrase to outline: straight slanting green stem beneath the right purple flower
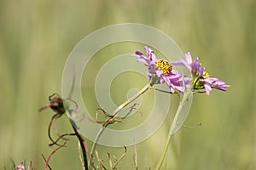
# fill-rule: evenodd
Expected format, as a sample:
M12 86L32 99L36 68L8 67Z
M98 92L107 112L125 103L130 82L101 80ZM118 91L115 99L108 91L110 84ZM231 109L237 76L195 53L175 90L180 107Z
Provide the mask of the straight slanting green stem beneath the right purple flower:
M168 133L168 138L166 140L166 145L165 145L165 149L164 149L164 152L160 158L160 161L158 162L157 166L156 166L156 170L159 170L160 167L162 166L163 164L163 161L165 160L165 157L166 157L166 151L168 150L168 146L171 142L171 138L172 138L172 134L173 134L173 131L175 129L175 127L177 126L177 118L179 117L182 109L183 109L183 105L187 102L187 100L189 99L191 93L192 93L192 89L193 89L193 86L190 86L190 88L185 92L185 94L183 95L183 99L180 101L178 107L177 107L177 111L176 111L176 114L174 116L174 119L172 121L172 126L170 127L170 131Z

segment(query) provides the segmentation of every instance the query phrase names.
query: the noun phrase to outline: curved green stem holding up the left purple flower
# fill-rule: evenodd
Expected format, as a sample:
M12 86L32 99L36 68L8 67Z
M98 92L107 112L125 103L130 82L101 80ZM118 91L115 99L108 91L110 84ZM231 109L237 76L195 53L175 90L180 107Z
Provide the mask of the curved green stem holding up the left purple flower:
M146 84L146 86L144 86L131 99L128 99L122 105L119 105L119 107L116 108L116 110L113 111L113 114L111 115L111 117L109 117L108 120L103 123L102 128L97 133L96 139L94 140L94 143L91 146L91 150L90 150L90 166L91 166L92 157L94 156L94 153L95 153L95 150L96 150L96 144L97 144L98 140L100 139L100 137L102 136L102 133L104 132L106 127L108 127L108 125L111 124L114 121L114 119L118 116L119 111L121 111L126 105L131 104L131 102L134 101L135 99L137 99L139 96L144 94L148 90L148 88L150 88L150 87L151 87L151 82L148 82L148 84Z

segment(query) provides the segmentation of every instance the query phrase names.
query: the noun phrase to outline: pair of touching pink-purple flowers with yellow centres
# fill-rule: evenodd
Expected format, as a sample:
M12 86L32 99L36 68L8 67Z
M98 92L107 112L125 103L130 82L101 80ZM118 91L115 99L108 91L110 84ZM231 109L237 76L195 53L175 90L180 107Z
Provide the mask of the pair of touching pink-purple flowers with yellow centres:
M147 76L152 85L166 83L171 93L183 93L189 86L193 86L193 91L204 90L207 94L210 94L212 88L226 91L226 88L230 87L218 78L210 77L205 68L201 66L199 58L195 57L193 61L190 53L185 54L186 60L180 59L180 61L169 63L164 59L157 59L151 48L145 46L145 50L147 55L140 51L136 51L135 55L139 57L138 62L148 67ZM192 79L173 70L172 65L187 67L193 76Z

